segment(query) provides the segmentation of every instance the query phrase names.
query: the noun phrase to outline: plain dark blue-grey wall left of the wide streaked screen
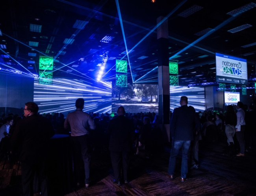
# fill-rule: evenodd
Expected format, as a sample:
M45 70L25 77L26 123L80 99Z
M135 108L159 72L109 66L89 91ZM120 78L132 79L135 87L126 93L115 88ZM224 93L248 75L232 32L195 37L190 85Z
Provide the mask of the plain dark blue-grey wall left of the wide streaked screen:
M34 79L0 73L0 113L22 114L26 102L33 102Z

